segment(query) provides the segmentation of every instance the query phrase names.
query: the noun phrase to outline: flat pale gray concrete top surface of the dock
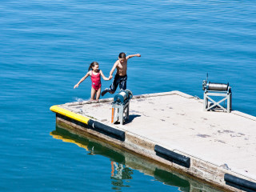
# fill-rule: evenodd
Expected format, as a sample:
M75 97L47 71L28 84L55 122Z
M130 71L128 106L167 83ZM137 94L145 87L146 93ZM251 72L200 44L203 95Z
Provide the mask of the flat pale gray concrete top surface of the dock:
M202 100L179 91L134 96L130 120L111 124L111 99L73 102L66 110L256 181L256 118L239 111L203 111ZM212 177L212 176L210 176ZM222 181L223 182L223 181Z

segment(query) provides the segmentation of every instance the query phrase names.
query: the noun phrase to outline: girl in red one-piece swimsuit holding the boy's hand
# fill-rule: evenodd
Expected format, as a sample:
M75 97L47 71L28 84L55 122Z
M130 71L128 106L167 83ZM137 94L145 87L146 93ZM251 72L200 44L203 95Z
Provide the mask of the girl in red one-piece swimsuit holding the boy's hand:
M104 80L110 80L110 78L106 78L102 73L102 70L98 69L98 62L92 62L90 63L88 73L86 76L81 78L81 80L74 86L74 89L77 88L79 84L83 82L89 75L92 82L90 100L95 100L96 98L96 101L98 101L102 90L101 76Z

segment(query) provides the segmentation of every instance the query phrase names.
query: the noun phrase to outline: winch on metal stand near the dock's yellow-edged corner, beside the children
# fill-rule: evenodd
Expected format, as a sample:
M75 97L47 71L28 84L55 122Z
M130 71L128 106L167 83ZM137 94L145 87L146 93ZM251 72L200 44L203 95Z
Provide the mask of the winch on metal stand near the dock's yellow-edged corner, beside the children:
M120 124L123 125L123 122L129 120L131 98L133 98L133 93L130 90L120 90L120 92L114 96L111 123L119 121Z

